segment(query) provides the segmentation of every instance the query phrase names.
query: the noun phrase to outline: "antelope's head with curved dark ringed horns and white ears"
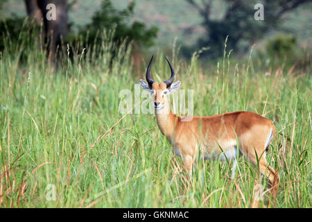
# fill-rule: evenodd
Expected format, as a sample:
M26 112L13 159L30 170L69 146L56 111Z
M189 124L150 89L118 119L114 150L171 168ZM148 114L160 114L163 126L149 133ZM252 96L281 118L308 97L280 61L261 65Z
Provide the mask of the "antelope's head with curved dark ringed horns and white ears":
M150 59L148 63L148 69L146 70L146 81L139 80L141 88L150 92L150 94L154 97L154 107L155 111L162 110L164 107L169 108L168 95L179 89L181 82L176 81L173 83L173 79L175 77L175 71L169 60L166 58L168 65L171 69L171 77L162 82L156 83L152 78L150 78L150 65L153 61L153 57Z

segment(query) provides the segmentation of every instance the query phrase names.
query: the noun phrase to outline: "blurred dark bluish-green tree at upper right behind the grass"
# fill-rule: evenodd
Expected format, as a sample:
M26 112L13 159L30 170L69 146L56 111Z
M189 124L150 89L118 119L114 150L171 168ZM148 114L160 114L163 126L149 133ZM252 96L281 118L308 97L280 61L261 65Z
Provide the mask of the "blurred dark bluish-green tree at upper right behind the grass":
M205 37L198 41L198 46L208 46L207 56L217 57L223 53L225 38L229 35L227 46L234 51L245 51L256 40L261 39L271 28L282 22L282 15L309 0L263 0L264 21L254 19L253 1L223 0L227 5L222 19L211 18L212 0L186 0L202 17ZM245 42L245 44L243 44Z

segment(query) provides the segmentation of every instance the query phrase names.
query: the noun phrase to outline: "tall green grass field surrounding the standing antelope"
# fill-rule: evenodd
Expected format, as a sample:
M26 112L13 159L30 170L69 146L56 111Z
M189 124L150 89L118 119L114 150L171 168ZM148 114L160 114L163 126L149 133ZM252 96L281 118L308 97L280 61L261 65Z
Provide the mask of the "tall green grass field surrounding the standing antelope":
M111 47L64 58L55 71L32 42L8 41L0 53L0 207L251 207L254 188L266 191L267 181L243 157L234 180L232 164L198 160L187 183L154 115L119 113L119 92L134 92L144 72L132 71L123 47L110 69ZM156 80L170 73L163 56L153 64ZM196 56L168 58L181 88L194 90L194 114L248 110L274 121L267 160L280 187L259 207L311 207L311 73L264 75L252 56L232 64L226 55L205 70Z

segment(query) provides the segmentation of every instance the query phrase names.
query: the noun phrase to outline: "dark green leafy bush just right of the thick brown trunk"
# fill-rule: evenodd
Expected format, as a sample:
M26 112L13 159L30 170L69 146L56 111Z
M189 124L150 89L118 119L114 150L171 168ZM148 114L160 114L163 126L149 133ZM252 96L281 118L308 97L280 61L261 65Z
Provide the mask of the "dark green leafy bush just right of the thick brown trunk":
M134 8L135 1L131 1L123 10L117 10L114 8L112 1L103 0L101 8L92 16L92 21L81 27L78 35L69 37L69 42L73 46L80 47L76 51L81 51L81 46L87 48L87 50L94 50L90 46L101 45L105 41L106 35L102 35L103 33L113 33L111 36L112 42L116 47L113 47L110 51L112 60L116 56L115 49L121 44L124 44L126 48L131 44L133 46L133 64L139 72L141 60L143 60L140 49L146 49L154 44L158 28L156 26L147 27L143 22L132 21ZM93 53L98 52L95 50ZM90 53L91 55L92 53Z

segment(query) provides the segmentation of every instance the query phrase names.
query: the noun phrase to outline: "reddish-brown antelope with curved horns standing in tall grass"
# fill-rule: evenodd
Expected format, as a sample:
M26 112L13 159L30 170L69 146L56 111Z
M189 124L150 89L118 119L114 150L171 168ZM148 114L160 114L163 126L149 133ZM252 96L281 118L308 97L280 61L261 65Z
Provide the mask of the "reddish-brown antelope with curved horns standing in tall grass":
M150 78L150 59L146 71L146 81L139 80L142 89L154 97L155 117L161 133L173 146L176 155L182 158L184 169L191 177L194 160L200 153L205 160L233 162L232 179L235 176L237 158L244 155L254 166L259 164L259 171L269 180L272 196L277 193L278 173L266 162L266 151L275 136L272 121L254 112L227 112L211 117L194 116L190 121L173 114L170 109L168 94L180 87L180 80L173 83L175 71L166 58L171 69L171 77L156 83Z

